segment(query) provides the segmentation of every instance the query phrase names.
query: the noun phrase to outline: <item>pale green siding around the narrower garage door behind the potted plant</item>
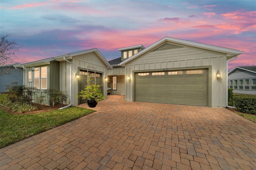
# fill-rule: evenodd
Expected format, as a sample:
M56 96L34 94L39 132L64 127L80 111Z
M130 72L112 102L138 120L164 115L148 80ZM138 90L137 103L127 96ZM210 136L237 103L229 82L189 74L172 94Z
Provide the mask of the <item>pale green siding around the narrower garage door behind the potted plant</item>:
M71 61L71 60L70 60ZM103 84L103 95L107 96L107 82L104 81L104 77L107 75L107 66L103 63L103 61L96 55L94 52L86 53L82 55L77 55L72 57L72 93L73 93L73 105L78 105L78 98L76 94L78 94L78 79L75 78L75 73L80 69L84 69L87 71L87 67L95 67L96 72L100 71L102 73L102 82ZM92 68L90 68L92 69ZM60 63L60 89L62 91L69 91L70 89L70 64L63 61ZM70 95L68 93L68 95Z

